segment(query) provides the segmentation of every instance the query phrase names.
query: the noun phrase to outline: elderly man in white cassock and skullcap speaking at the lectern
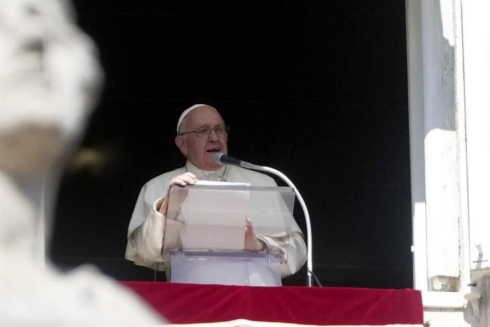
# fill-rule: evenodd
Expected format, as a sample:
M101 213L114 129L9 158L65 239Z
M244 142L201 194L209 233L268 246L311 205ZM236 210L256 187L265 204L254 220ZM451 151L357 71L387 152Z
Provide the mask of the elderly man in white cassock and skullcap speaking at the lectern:
M187 161L184 167L153 178L141 189L129 224L126 259L168 272L168 249L163 243L164 229L176 223L171 219L165 223L170 185L185 186L193 185L197 180L213 180L277 186L274 179L264 174L216 163L213 157L215 153L228 152L228 131L218 111L211 106L197 104L182 113L177 124L175 143ZM295 273L303 266L306 246L296 221L292 220L289 244L281 244L272 237L257 238L250 220L246 224L244 250L263 251L268 246L279 249L288 247L288 260L281 265L281 277Z

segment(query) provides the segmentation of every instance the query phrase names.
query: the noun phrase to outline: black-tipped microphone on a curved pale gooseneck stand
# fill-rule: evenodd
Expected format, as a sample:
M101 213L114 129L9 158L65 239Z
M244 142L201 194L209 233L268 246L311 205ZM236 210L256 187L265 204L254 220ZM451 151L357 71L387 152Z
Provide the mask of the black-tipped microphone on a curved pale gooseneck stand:
M286 175L284 175L283 173L281 173L280 171L278 171L274 168L265 167L265 166L258 166L258 165L251 164L250 162L241 161L241 160L240 160L239 165L237 165L237 166L272 173L272 174L282 178L295 191L296 196L298 197L298 201L300 201L301 207L303 208L303 212L305 214L305 220L306 220L306 236L307 236L306 248L308 251L308 259L306 261L306 268L307 268L306 280L307 280L307 285L309 287L313 286L313 279L312 279L312 274L313 274L312 243L313 242L311 240L310 214L308 213L308 208L306 207L305 201L303 200L303 197L301 196L300 192L296 188L295 184L293 184L289 180L289 178L286 177Z

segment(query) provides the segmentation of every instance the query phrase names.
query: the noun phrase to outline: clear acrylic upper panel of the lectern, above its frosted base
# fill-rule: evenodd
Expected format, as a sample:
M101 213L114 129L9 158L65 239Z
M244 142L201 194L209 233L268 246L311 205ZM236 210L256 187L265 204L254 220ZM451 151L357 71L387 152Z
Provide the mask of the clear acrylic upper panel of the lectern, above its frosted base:
M287 187L231 184L170 187L166 226L178 225L170 249L241 251L247 218L267 251L287 260L295 193Z

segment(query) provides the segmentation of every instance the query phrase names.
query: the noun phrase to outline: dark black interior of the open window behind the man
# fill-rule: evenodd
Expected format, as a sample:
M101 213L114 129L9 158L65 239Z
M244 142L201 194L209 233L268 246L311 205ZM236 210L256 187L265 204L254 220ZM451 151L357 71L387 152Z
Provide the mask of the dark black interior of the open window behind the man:
M153 280L124 259L133 206L146 181L183 166L177 119L206 103L231 126L230 154L301 192L324 286L412 287L403 0L74 4L106 80L62 178L59 267ZM298 202L295 217L306 235ZM283 280L305 283L305 268Z

